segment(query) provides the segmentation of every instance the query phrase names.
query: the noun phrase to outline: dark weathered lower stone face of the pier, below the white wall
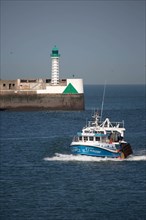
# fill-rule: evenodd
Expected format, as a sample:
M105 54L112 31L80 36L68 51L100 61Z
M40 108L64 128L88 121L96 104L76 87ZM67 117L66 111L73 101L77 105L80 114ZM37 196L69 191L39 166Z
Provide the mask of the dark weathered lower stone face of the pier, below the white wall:
M84 110L84 94L37 94L1 91L0 110Z

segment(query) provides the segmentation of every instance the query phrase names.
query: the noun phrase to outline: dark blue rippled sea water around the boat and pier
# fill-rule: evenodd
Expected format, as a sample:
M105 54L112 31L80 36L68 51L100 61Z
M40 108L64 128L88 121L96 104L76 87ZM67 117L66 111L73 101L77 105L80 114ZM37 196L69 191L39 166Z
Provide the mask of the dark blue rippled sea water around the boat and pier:
M144 86L107 86L103 118L124 119L134 156L72 156L72 137L101 107L85 86L83 112L0 112L1 220L146 219Z

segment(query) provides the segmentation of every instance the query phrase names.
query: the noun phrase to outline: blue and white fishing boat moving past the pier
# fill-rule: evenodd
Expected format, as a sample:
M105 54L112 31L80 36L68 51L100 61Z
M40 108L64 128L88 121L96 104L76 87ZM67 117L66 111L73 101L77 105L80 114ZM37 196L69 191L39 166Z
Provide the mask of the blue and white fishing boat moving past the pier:
M76 155L125 159L133 152L124 139L124 133L124 121L111 122L106 118L101 122L101 117L95 112L92 120L74 136L70 148Z

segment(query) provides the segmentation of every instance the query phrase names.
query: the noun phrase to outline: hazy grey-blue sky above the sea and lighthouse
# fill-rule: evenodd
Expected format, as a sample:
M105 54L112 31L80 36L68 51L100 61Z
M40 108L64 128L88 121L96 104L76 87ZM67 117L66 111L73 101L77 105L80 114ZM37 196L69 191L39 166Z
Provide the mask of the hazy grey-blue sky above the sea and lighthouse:
M1 78L60 78L85 84L145 81L145 1L1 0Z

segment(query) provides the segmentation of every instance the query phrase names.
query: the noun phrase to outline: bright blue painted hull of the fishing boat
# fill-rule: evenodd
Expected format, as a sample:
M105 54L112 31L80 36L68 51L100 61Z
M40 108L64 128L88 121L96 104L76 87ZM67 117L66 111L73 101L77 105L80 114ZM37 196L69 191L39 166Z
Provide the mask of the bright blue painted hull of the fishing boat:
M71 151L73 154L95 156L95 157L110 157L117 158L121 156L119 152L111 152L105 149L84 145L71 145Z

